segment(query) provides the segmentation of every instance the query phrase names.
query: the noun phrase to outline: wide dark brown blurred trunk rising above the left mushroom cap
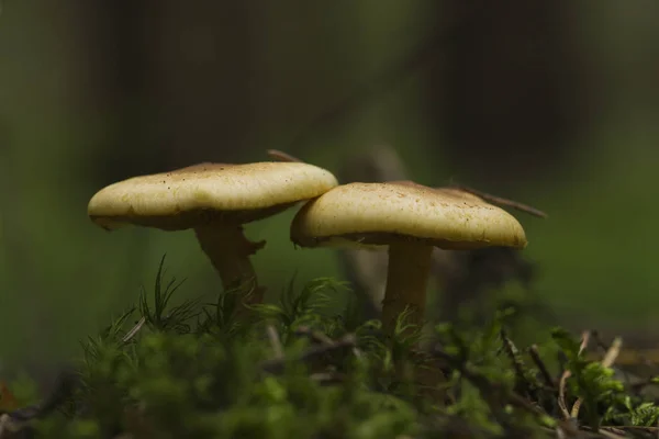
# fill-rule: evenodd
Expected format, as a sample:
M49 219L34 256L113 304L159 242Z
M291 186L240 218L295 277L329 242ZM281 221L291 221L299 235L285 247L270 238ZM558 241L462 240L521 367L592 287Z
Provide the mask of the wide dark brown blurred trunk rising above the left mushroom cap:
M250 125L244 2L85 5L89 102L107 136L100 184L204 160L236 160Z

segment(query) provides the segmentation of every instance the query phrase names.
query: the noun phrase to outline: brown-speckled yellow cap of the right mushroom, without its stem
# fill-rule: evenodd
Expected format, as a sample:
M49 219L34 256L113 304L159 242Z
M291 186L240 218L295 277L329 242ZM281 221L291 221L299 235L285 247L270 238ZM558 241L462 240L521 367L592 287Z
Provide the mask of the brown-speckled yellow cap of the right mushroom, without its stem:
M336 187L302 206L291 240L302 247L396 240L444 249L526 246L524 228L504 210L457 189L410 181Z

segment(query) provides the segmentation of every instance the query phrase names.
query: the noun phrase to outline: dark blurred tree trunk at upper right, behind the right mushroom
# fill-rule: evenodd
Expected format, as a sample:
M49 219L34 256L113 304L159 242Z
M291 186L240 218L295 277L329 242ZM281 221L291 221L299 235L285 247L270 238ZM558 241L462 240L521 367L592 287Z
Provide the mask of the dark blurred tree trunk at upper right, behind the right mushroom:
M588 122L589 92L573 48L569 0L438 2L455 16L427 71L443 148L491 187L540 181ZM438 32L446 32L445 29ZM456 165L457 166L457 165Z

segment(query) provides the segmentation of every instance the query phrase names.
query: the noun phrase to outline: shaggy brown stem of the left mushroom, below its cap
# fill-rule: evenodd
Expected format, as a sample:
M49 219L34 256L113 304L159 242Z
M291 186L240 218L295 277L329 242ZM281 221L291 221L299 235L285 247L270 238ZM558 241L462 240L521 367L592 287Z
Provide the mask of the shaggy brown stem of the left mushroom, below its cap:
M194 234L201 249L220 274L224 290L247 286L247 291L243 292L244 303L263 302L265 289L258 286L249 257L264 248L266 241L252 243L239 225L199 226L194 227ZM246 297L249 291L250 294Z

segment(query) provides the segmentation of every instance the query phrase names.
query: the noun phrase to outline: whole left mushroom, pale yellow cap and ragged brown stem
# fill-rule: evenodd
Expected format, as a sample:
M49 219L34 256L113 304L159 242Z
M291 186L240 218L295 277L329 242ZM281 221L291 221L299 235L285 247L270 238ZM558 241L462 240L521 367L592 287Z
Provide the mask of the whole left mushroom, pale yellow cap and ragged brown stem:
M330 171L301 162L204 162L110 184L92 196L87 211L108 230L131 224L194 229L224 289L254 282L247 301L258 303L264 289L257 286L249 256L265 241L249 241L243 224L280 213L337 184Z

